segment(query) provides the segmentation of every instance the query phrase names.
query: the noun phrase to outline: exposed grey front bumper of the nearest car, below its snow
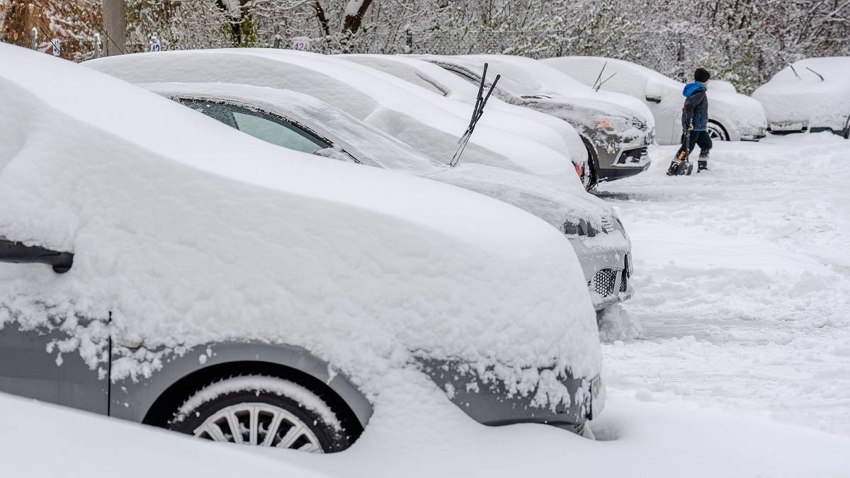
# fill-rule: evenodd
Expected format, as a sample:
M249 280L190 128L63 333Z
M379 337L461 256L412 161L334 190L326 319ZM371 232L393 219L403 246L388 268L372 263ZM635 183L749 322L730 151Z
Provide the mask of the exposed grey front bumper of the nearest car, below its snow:
M473 367L458 361L423 359L422 370L445 390L449 399L480 424L553 424L568 430L598 417L604 407L604 384L599 375L592 378L559 378L570 394L570 403L540 407L534 392L519 395L501 382L484 380Z

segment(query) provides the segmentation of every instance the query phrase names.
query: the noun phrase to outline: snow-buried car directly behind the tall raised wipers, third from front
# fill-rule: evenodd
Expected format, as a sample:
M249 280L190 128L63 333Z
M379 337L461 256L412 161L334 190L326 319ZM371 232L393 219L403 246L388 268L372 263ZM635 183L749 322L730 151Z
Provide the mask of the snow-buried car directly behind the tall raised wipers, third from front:
M329 55L280 48L124 54L83 65L131 83L241 83L309 94L445 162L455 154L472 115L471 107L462 108L382 71ZM521 125L522 118L516 123ZM511 127L480 124L463 161L562 181L578 179L566 148L556 151ZM545 128L536 122L534 127Z

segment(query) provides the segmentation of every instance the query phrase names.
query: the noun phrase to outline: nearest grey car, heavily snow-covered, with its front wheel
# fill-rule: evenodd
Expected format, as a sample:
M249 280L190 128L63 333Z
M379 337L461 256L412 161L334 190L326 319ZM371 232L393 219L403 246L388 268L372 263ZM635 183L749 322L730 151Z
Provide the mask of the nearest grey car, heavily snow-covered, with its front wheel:
M603 407L581 265L541 219L25 48L0 62L0 391L311 452L399 386L484 424Z

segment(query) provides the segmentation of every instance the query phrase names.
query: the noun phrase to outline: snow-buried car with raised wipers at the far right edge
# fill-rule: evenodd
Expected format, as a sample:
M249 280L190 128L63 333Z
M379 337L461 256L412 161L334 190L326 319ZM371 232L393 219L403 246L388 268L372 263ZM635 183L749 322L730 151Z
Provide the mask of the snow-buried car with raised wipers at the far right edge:
M831 131L850 138L850 57L807 58L753 92L774 134Z

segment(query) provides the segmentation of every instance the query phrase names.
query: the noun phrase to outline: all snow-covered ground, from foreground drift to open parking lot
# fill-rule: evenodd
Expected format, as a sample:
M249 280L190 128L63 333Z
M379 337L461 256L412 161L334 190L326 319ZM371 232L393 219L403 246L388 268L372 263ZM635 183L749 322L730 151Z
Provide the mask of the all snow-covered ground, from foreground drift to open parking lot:
M3 469L850 476L847 142L717 144L711 172L689 178L664 174L674 149L655 148L648 172L600 187L632 234L638 293L604 323L598 441L545 425L484 427L422 374L397 370L360 441L324 457L220 447L0 395Z

